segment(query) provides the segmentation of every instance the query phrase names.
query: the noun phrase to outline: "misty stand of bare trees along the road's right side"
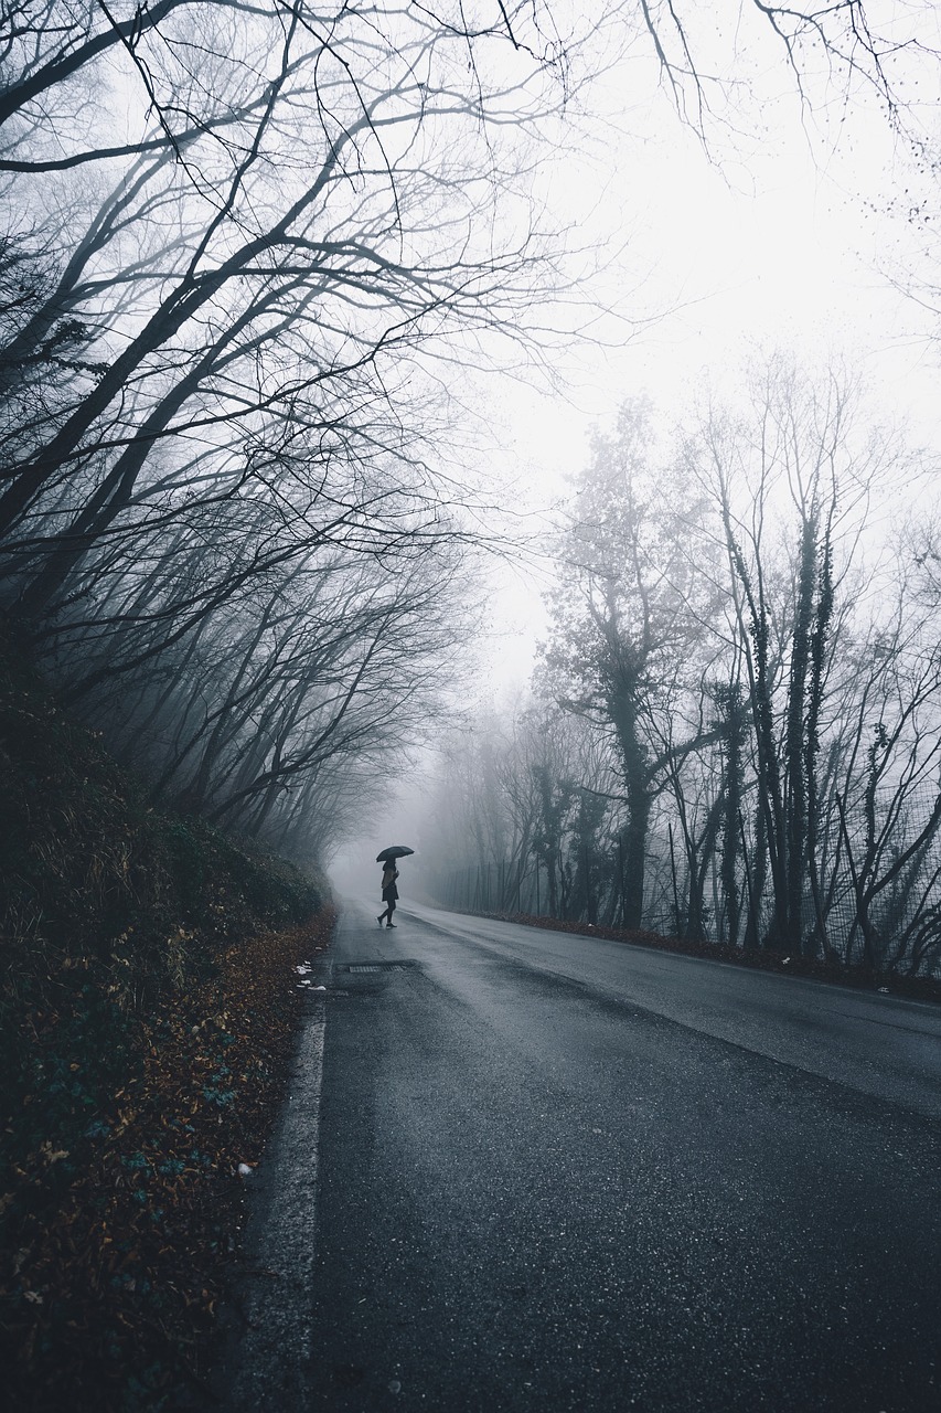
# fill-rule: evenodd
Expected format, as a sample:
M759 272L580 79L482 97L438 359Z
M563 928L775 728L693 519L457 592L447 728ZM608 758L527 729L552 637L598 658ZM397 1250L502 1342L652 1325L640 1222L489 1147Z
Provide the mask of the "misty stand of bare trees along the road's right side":
M446 752L437 896L933 975L937 471L845 369L743 382L596 435L528 694Z

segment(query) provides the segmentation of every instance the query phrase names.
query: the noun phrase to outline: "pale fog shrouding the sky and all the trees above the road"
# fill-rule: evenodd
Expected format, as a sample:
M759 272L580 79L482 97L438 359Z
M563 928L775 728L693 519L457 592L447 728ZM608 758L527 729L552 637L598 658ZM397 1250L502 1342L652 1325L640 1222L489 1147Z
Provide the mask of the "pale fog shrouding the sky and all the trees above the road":
M191 10L11 38L41 670L151 807L339 890L401 842L413 896L747 894L921 965L937 8Z

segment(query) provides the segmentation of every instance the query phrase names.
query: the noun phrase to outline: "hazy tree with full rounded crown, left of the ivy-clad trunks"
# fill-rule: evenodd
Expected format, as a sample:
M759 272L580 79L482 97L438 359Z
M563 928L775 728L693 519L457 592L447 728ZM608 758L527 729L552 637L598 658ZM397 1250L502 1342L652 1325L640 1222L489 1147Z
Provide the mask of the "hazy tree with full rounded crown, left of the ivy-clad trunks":
M692 482L658 458L651 410L625 404L615 435L596 439L578 482L550 599L545 663L560 699L616 752L630 927L641 923L650 810L673 749L661 749L656 721L670 714L702 636L702 592L711 593L698 568L708 554L702 509Z

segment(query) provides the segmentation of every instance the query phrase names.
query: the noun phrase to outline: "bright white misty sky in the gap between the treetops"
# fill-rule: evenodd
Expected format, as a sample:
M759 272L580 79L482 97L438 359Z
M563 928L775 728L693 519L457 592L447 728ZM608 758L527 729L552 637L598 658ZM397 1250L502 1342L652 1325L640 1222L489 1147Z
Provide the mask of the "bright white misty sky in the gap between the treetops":
M921 16L925 45L938 42L940 18L933 7ZM711 35L709 24L706 16L698 52L708 59L712 42L718 71L728 37ZM533 507L565 495L592 428L620 398L649 393L667 417L706 383L733 398L739 372L776 348L815 366L845 359L877 417L907 421L916 441L941 449L938 322L924 302L931 211L910 212L934 199L910 141L937 131L933 64L913 57L896 71L917 99L899 133L865 85L824 100L811 73L803 103L763 27L743 24L735 48L735 72L709 90L705 146L677 117L643 47L592 86L544 178L548 209L602 267L579 294L610 317L595 319L592 338L560 342L562 387L547 390L537 376L530 386L483 384L503 473ZM480 649L485 699L524 690L544 626L538 574L504 571L495 585ZM363 880L372 877L373 839L415 842L422 790L406 771L400 794L342 849L341 886L363 863Z

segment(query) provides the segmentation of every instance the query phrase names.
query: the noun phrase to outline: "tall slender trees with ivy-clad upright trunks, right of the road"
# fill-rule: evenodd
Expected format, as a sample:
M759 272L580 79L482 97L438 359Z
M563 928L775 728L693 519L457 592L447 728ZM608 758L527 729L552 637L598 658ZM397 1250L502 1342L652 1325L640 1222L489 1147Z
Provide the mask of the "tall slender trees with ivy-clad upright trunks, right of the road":
M855 390L835 374L814 386L776 359L754 380L752 400L749 420L711 417L694 458L722 520L753 721L753 901L764 893L767 866L770 944L788 950L807 935L812 950L825 944L818 756L835 595L859 548L872 487L899 463L883 435L853 435ZM808 882L817 928L805 933Z

